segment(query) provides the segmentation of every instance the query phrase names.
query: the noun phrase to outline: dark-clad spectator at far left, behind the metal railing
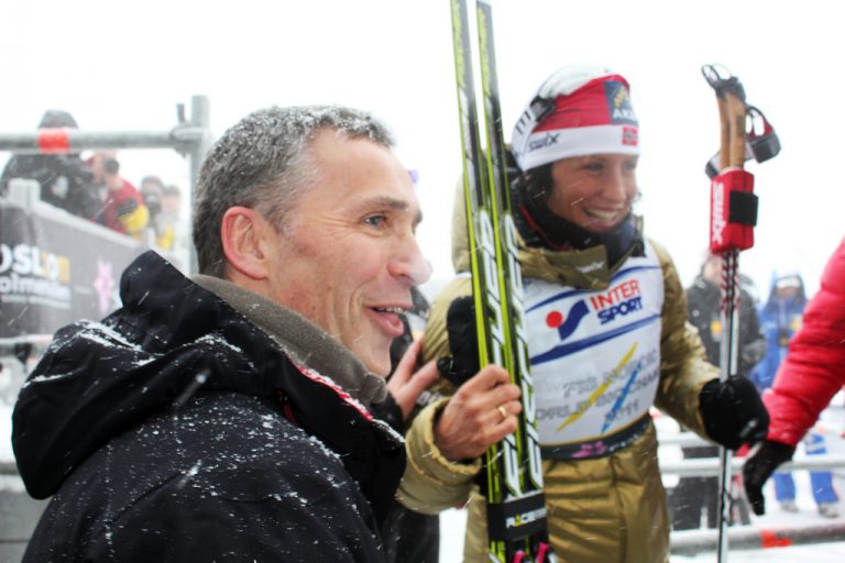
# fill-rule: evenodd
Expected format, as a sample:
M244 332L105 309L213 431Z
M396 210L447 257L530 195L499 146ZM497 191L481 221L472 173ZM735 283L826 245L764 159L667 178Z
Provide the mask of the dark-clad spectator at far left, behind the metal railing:
M47 110L41 118L40 129L77 129L74 117L64 110ZM90 170L73 154L15 154L6 164L0 177L0 195L9 191L9 180L26 178L41 185L41 200L85 219L94 219L100 199Z

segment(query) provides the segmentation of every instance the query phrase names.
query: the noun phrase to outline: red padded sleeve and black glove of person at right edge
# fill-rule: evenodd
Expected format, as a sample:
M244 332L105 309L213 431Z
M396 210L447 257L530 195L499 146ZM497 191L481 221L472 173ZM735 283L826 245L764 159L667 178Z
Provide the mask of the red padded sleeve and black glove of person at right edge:
M845 385L845 239L822 274L819 292L804 309L775 384L762 399L771 421L766 440L743 467L754 512L766 511L762 486Z

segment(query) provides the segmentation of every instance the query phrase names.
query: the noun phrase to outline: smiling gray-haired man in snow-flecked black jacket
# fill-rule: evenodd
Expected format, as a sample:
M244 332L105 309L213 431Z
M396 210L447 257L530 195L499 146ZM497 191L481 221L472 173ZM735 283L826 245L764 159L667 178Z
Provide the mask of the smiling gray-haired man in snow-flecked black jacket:
M370 407L429 275L392 145L338 107L226 132L196 190L200 274L140 256L123 307L59 330L21 391L21 476L53 495L25 562L384 560L405 449ZM435 376L413 365L405 412Z

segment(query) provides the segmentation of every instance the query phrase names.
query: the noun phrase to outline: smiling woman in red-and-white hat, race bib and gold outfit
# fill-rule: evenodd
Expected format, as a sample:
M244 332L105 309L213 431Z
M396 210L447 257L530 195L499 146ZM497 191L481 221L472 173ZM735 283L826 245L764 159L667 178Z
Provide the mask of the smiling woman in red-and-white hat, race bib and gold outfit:
M531 402L549 540L566 561L668 561L652 405L733 449L746 422L768 421L750 383L722 384L706 363L672 260L632 209L640 147L628 88L607 68L562 66L529 98L512 136ZM471 249L460 233L454 247L456 267L465 268ZM458 276L434 300L427 357L478 365L474 331L461 330L474 318L461 305L470 289L469 276ZM479 563L496 536L473 486L471 448L496 437L470 401L504 415L491 399L500 389L474 386L482 374L441 382L450 399L414 420L399 486L400 501L426 514L468 503L464 561Z

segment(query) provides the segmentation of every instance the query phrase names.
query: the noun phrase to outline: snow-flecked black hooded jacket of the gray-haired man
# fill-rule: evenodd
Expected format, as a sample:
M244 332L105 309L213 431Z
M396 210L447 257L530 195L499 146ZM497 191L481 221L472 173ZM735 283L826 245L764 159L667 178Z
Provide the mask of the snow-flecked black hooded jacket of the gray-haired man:
M400 438L155 254L121 297L15 406L26 489L54 495L24 561L382 561Z

